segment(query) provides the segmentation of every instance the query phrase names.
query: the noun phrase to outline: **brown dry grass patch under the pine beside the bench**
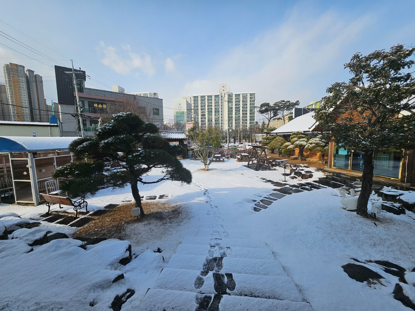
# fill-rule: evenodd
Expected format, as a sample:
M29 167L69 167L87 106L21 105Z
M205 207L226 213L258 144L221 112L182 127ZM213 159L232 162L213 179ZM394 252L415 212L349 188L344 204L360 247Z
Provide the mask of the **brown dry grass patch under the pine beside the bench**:
M180 204L164 202L142 202L144 216L137 220L131 216L131 209L135 203L122 204L101 216L92 216L95 220L81 227L74 236L88 238L128 238L129 228L151 226L151 224L174 224L183 221L187 212ZM136 228L137 229L137 228Z

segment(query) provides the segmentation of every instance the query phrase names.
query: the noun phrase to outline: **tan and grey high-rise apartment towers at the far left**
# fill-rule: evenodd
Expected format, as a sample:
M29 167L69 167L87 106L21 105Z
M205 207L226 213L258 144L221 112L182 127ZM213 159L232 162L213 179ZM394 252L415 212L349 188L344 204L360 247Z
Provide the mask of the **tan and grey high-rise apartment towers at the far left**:
M47 122L42 77L14 63L4 64L3 73L10 121Z

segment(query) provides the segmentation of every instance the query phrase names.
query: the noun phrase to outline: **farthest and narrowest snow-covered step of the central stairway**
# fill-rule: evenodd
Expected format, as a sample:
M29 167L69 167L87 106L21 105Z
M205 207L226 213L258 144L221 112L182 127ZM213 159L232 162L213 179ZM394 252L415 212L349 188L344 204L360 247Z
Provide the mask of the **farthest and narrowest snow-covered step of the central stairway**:
M234 247L248 247L248 248L266 248L264 241L249 240L249 239L233 239L233 238L205 238L202 236L185 236L182 244L198 244L210 246L234 246Z

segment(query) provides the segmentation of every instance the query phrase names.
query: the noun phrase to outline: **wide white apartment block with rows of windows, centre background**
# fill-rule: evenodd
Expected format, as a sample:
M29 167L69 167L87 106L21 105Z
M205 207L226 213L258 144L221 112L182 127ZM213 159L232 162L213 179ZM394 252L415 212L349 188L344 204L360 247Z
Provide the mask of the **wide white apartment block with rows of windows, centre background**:
M192 95L194 121L200 128L217 126L222 129L254 126L256 92L227 91L221 84L218 94Z

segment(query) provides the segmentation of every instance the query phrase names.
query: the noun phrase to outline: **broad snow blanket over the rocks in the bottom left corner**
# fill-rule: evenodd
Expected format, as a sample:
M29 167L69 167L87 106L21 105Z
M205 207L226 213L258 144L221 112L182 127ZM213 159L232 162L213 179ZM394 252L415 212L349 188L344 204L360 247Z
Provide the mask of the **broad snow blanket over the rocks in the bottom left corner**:
M58 239L24 253L30 247L20 240L1 241L2 279L11 282L0 282L0 310L87 310L90 304L108 310L127 289L124 280L112 281L120 275L118 260L125 258L129 242L99 244L84 250L82 241Z

